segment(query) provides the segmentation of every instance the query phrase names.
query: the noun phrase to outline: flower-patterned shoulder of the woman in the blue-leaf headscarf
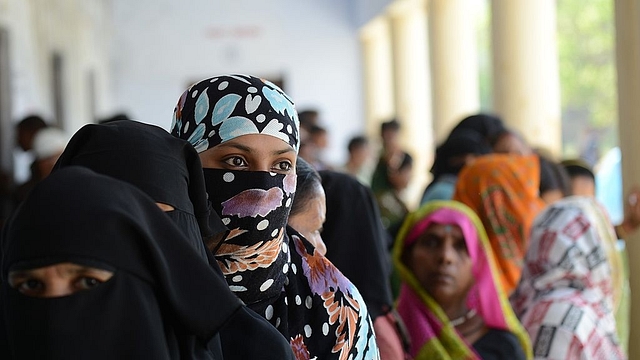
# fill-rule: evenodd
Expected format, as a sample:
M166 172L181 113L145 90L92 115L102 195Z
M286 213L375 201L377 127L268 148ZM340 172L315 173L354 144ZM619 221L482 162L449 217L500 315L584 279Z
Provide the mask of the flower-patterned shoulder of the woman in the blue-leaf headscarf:
M304 348L303 352L306 352L308 343L317 341L309 339L309 334L322 330L324 337L318 339L328 346L314 345L315 352L308 349L314 352L307 354L309 358L379 359L373 323L358 289L290 226L287 227L287 236L291 270L285 292L292 299L290 303L296 304L292 307L302 309L309 321L317 324L312 328L305 323L304 329L293 330L290 326L289 330L293 332L289 336L294 352L297 348ZM301 299L304 299L304 308L300 306L303 303ZM306 336L302 336L303 330Z

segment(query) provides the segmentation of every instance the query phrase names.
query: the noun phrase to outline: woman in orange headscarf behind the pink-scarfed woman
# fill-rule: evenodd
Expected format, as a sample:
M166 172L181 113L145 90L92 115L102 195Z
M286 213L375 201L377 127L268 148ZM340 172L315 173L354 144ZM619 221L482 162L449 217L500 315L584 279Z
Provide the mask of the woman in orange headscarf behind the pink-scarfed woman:
M536 155L492 154L460 172L453 200L482 220L499 267L503 289L511 294L520 280L533 219L544 207L538 195Z

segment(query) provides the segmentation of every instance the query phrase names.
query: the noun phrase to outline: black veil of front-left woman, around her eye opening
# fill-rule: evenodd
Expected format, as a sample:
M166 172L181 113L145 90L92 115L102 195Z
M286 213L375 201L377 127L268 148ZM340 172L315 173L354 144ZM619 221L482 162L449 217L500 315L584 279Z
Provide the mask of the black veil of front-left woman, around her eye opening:
M137 188L69 167L39 184L3 229L3 359L210 359L240 308L222 278ZM94 289L25 296L10 270L60 262L114 271ZM211 308L215 307L215 311Z

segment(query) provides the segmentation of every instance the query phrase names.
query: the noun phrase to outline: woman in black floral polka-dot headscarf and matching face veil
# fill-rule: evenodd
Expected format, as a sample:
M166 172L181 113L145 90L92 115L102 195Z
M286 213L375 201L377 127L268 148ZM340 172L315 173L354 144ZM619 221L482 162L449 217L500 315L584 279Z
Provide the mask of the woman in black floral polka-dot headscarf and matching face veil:
M230 229L215 256L231 290L298 359L377 359L358 290L286 226L300 144L291 99L252 76L205 79L180 97L171 133L199 152L212 207Z

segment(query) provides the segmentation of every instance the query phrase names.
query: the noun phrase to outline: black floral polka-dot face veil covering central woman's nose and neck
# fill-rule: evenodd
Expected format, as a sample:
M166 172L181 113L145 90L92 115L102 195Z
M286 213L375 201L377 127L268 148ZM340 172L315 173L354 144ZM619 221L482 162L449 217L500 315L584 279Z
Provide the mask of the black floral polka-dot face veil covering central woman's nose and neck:
M207 189L218 189L209 192L213 210L230 230L215 254L229 287L249 306L279 297L295 174L204 169L204 175Z

